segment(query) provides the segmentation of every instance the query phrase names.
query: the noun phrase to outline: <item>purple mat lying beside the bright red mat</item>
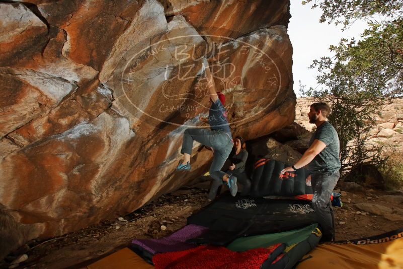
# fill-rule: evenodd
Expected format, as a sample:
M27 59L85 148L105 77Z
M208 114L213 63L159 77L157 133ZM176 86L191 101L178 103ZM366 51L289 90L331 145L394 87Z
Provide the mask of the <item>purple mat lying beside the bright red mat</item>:
M132 244L137 245L152 254L182 251L194 248L195 244L185 243L188 239L201 236L208 228L189 224L175 233L160 239L133 239Z

